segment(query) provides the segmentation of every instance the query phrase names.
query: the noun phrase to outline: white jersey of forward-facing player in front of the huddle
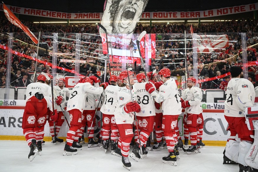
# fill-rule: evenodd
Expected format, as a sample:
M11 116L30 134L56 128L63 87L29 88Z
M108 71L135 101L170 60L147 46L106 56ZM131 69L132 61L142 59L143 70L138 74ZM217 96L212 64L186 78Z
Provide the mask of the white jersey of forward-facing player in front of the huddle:
M124 87L119 87L117 92L117 105L115 108L115 119L116 124L132 124L134 121L134 112L126 113L124 111L124 106L126 103L132 102L132 98L135 101L135 90L134 87L132 89L132 95L130 93L130 89Z

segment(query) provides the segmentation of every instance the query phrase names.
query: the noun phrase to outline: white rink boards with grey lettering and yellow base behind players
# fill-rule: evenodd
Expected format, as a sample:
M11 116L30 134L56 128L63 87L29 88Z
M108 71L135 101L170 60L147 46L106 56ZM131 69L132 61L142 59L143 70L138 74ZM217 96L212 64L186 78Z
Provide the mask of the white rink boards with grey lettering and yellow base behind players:
M9 101L9 103L10 102L11 101ZM203 111L203 142L205 142L205 144L207 145L225 146L226 140L228 139L230 132L226 130L228 127L228 123L224 118L224 110L204 109ZM21 128L23 112L24 106L0 106L0 140L25 140ZM178 119L179 132L181 136L183 136L183 116L184 113L182 112ZM67 112L66 117L68 117L67 119L69 121L69 114ZM97 111L95 135L97 135L100 131L100 125L100 111ZM65 139L68 129L69 128L66 122L64 122L58 136ZM85 135L87 137L87 134ZM49 136L49 125L47 122L47 124L45 125L44 140L51 141L51 137ZM150 137L152 140L155 139L155 134L151 134ZM184 140L184 137L182 137L182 139Z

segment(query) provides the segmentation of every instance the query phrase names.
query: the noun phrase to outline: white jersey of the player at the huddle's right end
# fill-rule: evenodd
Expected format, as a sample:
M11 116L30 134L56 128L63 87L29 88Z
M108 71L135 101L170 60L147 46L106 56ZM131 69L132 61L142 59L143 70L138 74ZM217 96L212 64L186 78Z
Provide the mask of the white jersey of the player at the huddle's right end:
M182 99L188 100L191 105L185 108L186 113L200 114L202 113L202 90L198 87L193 86L191 89L186 88L182 93Z

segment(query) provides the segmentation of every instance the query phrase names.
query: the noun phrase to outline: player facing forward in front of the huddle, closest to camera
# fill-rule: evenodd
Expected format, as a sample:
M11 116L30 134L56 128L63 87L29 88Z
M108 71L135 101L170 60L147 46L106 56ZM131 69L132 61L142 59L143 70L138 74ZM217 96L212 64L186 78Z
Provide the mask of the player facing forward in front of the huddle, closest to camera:
M140 112L141 107L135 101L136 98L134 97L135 91L134 87L132 86L134 85L133 72L123 71L120 73L119 79L123 83L117 92L118 103L116 105L114 115L120 138L118 142L118 148L114 153L122 155L123 166L130 170L131 163L129 161L128 154L130 149L130 142L134 136L132 125L134 121L134 112ZM131 91L130 85L132 87ZM132 99L134 101L132 101Z

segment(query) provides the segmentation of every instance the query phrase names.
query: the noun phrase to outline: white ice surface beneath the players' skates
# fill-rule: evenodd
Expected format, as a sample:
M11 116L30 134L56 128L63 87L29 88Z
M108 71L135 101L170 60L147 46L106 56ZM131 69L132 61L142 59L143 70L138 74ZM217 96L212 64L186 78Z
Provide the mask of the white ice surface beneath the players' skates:
M28 154L30 151L26 141L0 140L0 171L128 171L123 167L121 158L111 155L111 150L105 154L99 147L87 147L82 145L82 150L77 155L63 156L64 142L54 145L46 142L42 146L41 156L37 155L30 162ZM131 171L137 172L237 172L238 165L223 164L224 147L205 146L201 153L187 155L180 150L180 158L176 161L177 166L162 163L162 157L168 154L167 149L160 151L149 151L146 158L139 162L129 158ZM129 155L132 152L130 148Z

